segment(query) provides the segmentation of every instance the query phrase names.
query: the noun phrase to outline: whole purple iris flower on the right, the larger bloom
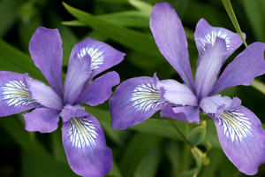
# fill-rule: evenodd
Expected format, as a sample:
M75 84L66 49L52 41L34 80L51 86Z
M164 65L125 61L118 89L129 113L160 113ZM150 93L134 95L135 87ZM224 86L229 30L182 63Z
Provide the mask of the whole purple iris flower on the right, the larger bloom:
M159 50L185 84L159 81L156 76L124 81L110 98L112 127L131 127L159 110L162 117L199 123L199 112L205 112L214 120L223 151L231 162L243 173L257 173L258 166L265 162L261 121L240 105L239 98L218 93L233 86L250 85L256 76L265 73L265 44L249 45L219 76L225 60L242 42L239 35L211 27L201 19L194 34L199 57L193 81L186 35L170 4L155 4L150 28Z

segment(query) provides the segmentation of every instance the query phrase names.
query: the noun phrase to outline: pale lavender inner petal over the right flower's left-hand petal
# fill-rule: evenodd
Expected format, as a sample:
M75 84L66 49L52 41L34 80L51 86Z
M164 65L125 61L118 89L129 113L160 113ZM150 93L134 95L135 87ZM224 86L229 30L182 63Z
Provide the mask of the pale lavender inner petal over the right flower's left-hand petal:
M197 106L197 97L186 84L174 80L157 81L156 88L162 90L160 97L165 102Z

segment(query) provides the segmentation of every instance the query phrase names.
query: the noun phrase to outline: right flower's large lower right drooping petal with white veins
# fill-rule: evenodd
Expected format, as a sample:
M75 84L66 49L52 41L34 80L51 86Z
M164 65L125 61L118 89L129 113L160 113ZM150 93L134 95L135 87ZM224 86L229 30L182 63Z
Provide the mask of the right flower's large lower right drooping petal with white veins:
M219 141L226 156L248 175L265 163L265 132L261 121L243 106L214 116Z

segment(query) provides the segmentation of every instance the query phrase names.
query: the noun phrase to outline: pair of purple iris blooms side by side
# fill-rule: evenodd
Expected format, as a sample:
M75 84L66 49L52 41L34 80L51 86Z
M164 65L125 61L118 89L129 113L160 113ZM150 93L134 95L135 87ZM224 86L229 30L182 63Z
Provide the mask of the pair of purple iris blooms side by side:
M170 4L155 4L150 28L159 50L184 83L159 81L156 75L124 81L110 98L111 126L131 127L159 110L162 117L199 123L199 113L205 112L214 120L223 151L231 162L243 173L257 173L259 165L265 162L261 121L241 105L238 97L218 93L233 86L250 85L256 76L265 73L265 44L252 43L220 74L225 60L242 42L238 34L211 27L201 19L194 34L199 57L193 80L186 35ZM79 105L95 106L111 96L112 87L119 83L116 72L92 80L120 63L125 54L87 38L73 47L63 85L63 50L58 30L39 27L29 43L29 51L50 87L27 74L0 72L0 116L34 109L23 114L25 128L41 133L56 130L62 117L64 150L72 170L86 177L109 173L112 155L102 127Z

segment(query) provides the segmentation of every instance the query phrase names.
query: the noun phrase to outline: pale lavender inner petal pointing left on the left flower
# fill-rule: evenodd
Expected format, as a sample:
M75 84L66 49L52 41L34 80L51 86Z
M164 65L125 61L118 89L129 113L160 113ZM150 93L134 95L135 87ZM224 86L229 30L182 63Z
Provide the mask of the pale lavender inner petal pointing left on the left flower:
M46 86L42 81L37 81L29 77L27 77L26 81L30 96L38 103L58 111L63 108L62 99L49 86Z

